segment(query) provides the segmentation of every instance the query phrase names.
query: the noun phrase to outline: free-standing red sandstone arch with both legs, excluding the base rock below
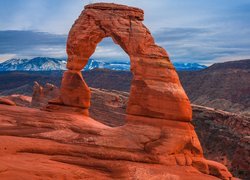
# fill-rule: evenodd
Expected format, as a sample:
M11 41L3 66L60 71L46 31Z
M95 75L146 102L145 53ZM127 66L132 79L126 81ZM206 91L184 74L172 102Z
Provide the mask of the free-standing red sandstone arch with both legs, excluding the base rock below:
M167 52L156 45L143 25L141 9L96 3L85 10L72 26L68 41L68 71L64 73L61 101L64 105L90 106L90 91L80 70L97 44L111 37L129 55L133 80L127 114L176 121L190 121L190 102L180 84Z

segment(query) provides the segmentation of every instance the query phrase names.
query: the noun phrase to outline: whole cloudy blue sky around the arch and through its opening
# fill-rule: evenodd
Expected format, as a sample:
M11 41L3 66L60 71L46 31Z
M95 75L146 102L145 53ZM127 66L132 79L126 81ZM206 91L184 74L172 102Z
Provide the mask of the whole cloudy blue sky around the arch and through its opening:
M144 10L144 24L174 62L212 64L250 58L249 0L106 1ZM0 62L35 56L66 57L67 34L94 0L0 0ZM128 60L111 39L94 58Z

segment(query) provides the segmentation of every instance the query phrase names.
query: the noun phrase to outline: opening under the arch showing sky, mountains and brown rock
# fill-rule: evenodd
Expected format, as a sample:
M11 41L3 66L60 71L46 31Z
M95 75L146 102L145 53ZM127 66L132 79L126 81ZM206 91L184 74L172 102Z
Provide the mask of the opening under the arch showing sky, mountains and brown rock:
M125 124L129 92L123 92L122 89L123 86L128 86L130 83L129 62L127 53L115 44L111 37L105 37L97 44L95 52L85 66L88 66L88 69L98 68L91 72L96 75L88 82L91 91L89 108L91 118L111 127ZM117 73L114 70L126 70L127 72ZM108 81L108 79L112 80ZM124 79L126 82L122 81Z

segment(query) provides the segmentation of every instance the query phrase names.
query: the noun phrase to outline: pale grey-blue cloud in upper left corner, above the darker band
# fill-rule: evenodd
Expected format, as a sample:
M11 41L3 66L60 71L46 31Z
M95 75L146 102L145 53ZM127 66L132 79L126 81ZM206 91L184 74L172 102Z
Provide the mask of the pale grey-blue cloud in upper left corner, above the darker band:
M1 30L32 30L68 33L86 1L0 0Z

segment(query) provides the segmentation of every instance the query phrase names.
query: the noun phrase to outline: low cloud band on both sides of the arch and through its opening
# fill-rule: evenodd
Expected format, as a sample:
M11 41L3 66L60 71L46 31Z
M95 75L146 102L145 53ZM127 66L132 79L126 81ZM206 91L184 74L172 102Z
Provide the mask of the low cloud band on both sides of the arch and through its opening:
M225 35L213 28L162 28L153 33L155 41L164 47L174 62L197 62L210 65L232 57L250 56L250 42ZM243 33L243 32L242 32ZM248 31L244 31L248 33ZM235 35L238 36L239 35ZM242 35L246 37L246 34ZM34 31L0 31L0 60L9 57L66 57L67 35ZM230 42L234 43L230 43ZM92 58L106 61L128 61L128 55L111 38L98 44Z

